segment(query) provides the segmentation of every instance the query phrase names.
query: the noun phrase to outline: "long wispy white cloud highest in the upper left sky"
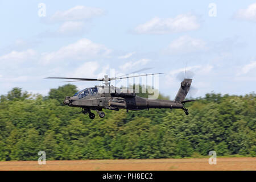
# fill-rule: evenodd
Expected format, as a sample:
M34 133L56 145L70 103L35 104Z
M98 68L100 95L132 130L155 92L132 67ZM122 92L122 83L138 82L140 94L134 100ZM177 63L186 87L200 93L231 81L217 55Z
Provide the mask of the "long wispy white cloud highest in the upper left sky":
M57 11L50 18L53 22L77 21L93 18L104 14L104 11L95 7L75 6L67 11Z

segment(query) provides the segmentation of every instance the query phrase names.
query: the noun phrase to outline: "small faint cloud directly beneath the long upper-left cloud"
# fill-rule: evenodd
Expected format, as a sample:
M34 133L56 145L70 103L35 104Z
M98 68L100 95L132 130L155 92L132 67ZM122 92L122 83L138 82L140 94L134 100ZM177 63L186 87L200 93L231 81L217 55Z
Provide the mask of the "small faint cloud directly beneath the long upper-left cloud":
M73 33L76 34L77 32L81 32L83 30L83 27L84 27L84 22L68 21L61 24L58 32L60 34L73 34Z

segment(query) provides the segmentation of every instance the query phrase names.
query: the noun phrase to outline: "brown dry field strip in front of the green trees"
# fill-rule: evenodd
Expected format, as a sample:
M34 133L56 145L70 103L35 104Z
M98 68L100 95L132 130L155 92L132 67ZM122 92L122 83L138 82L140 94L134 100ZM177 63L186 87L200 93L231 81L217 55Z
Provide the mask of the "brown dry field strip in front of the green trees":
M0 162L0 170L256 170L256 158L217 158L210 165L205 159L145 160L52 160L46 165L37 161Z

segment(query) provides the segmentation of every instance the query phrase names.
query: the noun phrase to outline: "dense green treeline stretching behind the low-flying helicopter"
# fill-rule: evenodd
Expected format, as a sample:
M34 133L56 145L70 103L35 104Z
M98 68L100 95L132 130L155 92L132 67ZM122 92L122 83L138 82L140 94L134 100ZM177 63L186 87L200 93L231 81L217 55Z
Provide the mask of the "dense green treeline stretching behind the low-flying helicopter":
M0 98L0 160L158 159L256 156L255 93L210 93L182 110L105 111L105 118L76 114L62 104L74 85L47 97L14 88ZM164 98L163 96L161 96Z

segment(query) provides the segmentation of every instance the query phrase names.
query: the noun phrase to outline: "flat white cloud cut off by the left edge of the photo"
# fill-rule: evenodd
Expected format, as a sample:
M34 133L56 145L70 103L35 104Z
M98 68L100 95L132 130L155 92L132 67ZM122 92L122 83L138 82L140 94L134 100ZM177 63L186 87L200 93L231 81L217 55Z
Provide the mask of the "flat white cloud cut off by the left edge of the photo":
M11 51L6 55L0 56L0 63L6 64L11 62L20 63L22 61L32 60L37 55L33 49L27 49L27 51Z

